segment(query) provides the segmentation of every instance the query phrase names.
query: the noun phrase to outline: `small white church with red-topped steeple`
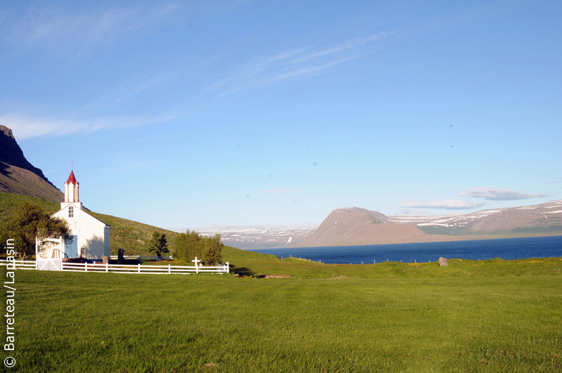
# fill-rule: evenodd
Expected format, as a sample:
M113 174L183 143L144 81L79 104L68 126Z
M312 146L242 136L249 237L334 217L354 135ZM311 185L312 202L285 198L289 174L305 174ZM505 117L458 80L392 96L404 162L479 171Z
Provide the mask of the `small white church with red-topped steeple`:
M60 202L60 210L52 216L68 222L72 240L63 242L60 245L62 250L55 246L47 247L39 254L41 257L83 258L88 261L100 261L103 256L110 258L111 227L84 211L78 189L74 171L70 171L65 183L65 202Z

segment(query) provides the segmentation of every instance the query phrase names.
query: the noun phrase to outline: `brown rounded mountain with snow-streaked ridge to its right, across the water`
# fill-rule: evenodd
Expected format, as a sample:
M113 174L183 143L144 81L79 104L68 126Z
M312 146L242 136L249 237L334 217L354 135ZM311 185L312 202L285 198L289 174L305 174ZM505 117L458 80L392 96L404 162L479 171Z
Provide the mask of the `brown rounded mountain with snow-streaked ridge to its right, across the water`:
M314 233L290 246L398 244L523 235L562 235L562 201L441 216L386 216L348 207L332 211Z

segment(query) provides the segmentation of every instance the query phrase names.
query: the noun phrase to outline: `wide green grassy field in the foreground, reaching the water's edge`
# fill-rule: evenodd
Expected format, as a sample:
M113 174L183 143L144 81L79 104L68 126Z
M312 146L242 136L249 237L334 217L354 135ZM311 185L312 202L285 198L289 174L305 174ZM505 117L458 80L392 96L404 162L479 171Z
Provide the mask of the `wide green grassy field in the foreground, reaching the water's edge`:
M242 276L18 270L11 371L562 370L560 258L438 267L225 256ZM244 277L260 273L292 277Z

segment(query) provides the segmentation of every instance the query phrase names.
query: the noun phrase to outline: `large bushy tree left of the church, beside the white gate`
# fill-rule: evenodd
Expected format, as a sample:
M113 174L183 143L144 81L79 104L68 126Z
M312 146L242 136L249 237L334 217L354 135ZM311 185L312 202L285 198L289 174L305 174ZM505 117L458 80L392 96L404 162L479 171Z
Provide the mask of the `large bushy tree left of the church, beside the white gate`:
M1 240L13 239L20 259L25 261L35 254L36 237L37 250L43 251L47 244L41 241L46 238L70 240L70 228L63 218L53 218L38 204L22 201L1 229Z

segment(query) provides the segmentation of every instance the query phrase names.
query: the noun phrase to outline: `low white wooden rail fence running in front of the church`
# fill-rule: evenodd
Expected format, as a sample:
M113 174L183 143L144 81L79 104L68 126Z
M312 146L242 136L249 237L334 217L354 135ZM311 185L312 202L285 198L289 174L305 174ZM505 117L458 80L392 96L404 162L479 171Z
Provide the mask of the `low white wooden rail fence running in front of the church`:
M52 261L53 259L51 259ZM60 259L59 259L60 260ZM66 270L69 272L105 272L105 273L150 273L150 274L190 274L190 273L230 273L230 264L226 262L223 266L141 266L139 263L137 266L125 265L125 264L109 264L109 263L67 263L61 261L62 265L58 269L58 266L53 263L42 263L45 259L39 259L37 261L8 261L6 259L0 259L0 266L10 266L15 265L18 269L37 269L37 270Z

